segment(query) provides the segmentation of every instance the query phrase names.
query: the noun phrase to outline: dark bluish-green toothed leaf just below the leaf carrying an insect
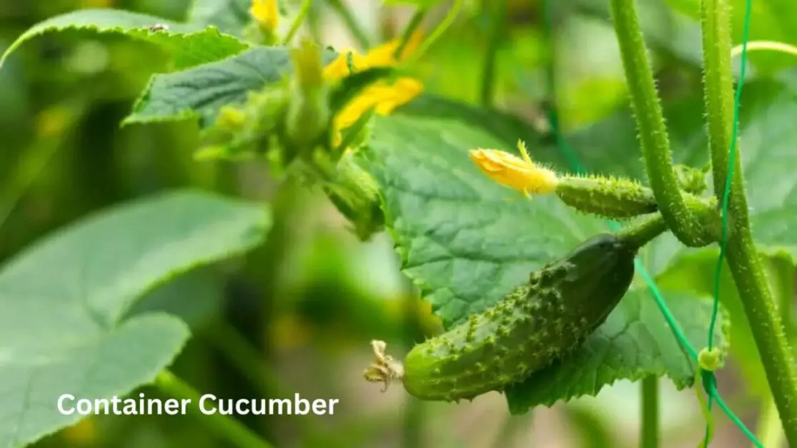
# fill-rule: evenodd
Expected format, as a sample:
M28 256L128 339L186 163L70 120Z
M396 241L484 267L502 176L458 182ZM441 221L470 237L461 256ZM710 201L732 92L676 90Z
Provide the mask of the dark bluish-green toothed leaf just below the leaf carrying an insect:
M332 50L324 51L324 64L334 58ZM249 92L292 71L289 49L261 47L183 72L155 75L123 124L198 119L200 127L208 127L222 106L244 103Z

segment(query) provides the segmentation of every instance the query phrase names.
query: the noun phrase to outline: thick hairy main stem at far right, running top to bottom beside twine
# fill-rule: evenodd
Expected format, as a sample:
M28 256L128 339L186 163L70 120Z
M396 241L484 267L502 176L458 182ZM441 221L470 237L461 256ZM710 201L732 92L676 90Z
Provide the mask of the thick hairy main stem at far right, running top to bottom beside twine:
M720 201L727 201L728 216L732 218L726 249L728 267L742 299L744 313L750 322L789 446L797 446L795 360L750 231L740 157L731 150L736 146L734 123L737 111L733 107L730 12L727 0L702 0L701 19L705 107L708 113L714 190ZM746 25L745 30L747 28ZM736 157L732 158L732 154ZM732 180L730 188L723 189L728 179Z

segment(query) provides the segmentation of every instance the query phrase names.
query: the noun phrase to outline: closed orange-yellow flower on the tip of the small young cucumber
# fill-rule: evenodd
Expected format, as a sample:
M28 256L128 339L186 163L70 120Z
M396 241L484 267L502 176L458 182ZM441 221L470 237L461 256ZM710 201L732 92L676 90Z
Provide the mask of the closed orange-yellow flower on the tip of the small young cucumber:
M559 183L551 169L536 166L528 157L524 142L517 142L523 158L501 150L471 150L469 155L482 173L497 183L516 189L526 197L531 194L552 193Z

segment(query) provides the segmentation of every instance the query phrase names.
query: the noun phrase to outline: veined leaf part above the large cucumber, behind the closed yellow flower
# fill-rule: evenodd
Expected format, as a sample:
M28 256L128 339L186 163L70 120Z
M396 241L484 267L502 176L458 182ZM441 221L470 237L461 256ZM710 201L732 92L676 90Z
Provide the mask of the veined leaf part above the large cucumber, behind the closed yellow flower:
M532 205L506 201L520 193L490 181L468 157L469 149L503 146L483 131L396 115L375 117L372 135L363 167L383 192L403 271L446 327L606 230L602 220L577 215L553 196Z

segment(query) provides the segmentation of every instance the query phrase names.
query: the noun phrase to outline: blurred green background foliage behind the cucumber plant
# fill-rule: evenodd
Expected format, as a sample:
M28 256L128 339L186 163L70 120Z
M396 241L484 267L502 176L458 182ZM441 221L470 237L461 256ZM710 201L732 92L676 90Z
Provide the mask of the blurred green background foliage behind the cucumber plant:
M697 4L640 0L665 99L701 88ZM313 31L325 44L355 45L336 5L340 2L316 0ZM350 0L344 6L374 43L397 37L412 13L375 1ZM182 20L190 0L0 0L0 50L38 21L96 7ZM556 101L564 125L573 129L625 107L626 88L607 3L574 0L556 7L563 18L556 24ZM428 92L477 101L489 28L482 8L489 8L489 2L469 2L420 61ZM540 119L537 105L546 99L548 49L541 40L540 10L540 0L509 2L497 60L497 103L534 122ZM759 11L754 37L794 42L797 26L771 25L775 19L783 23L777 14L786 11L775 6ZM433 15L440 18L444 12L435 9ZM797 21L797 14L791 16ZM201 392L228 397L299 392L340 399L332 416L241 418L266 439L281 447L636 444L639 399L634 384L616 384L596 398L522 417L508 417L497 394L469 404L429 404L408 399L400 388L381 394L366 384L361 371L371 357L372 338L406 345L438 325L398 274L390 240L379 236L360 243L323 195L277 185L260 166L194 162L194 123L120 127L153 70L165 64L159 57L148 45L76 32L37 37L10 57L0 71L0 261L89 212L177 186L272 201L277 223L264 246L234 263L183 275L131 311L169 310L189 322L194 338L174 372ZM776 73L790 62L779 55L752 55L757 72ZM700 120L700 112L685 119ZM755 407L746 406L752 402L736 372L722 374L723 395L745 421L754 423ZM697 443L703 424L692 392L675 392L662 382L662 428L665 446ZM714 443L746 445L725 424ZM86 419L37 446L225 445L188 417L135 416Z

